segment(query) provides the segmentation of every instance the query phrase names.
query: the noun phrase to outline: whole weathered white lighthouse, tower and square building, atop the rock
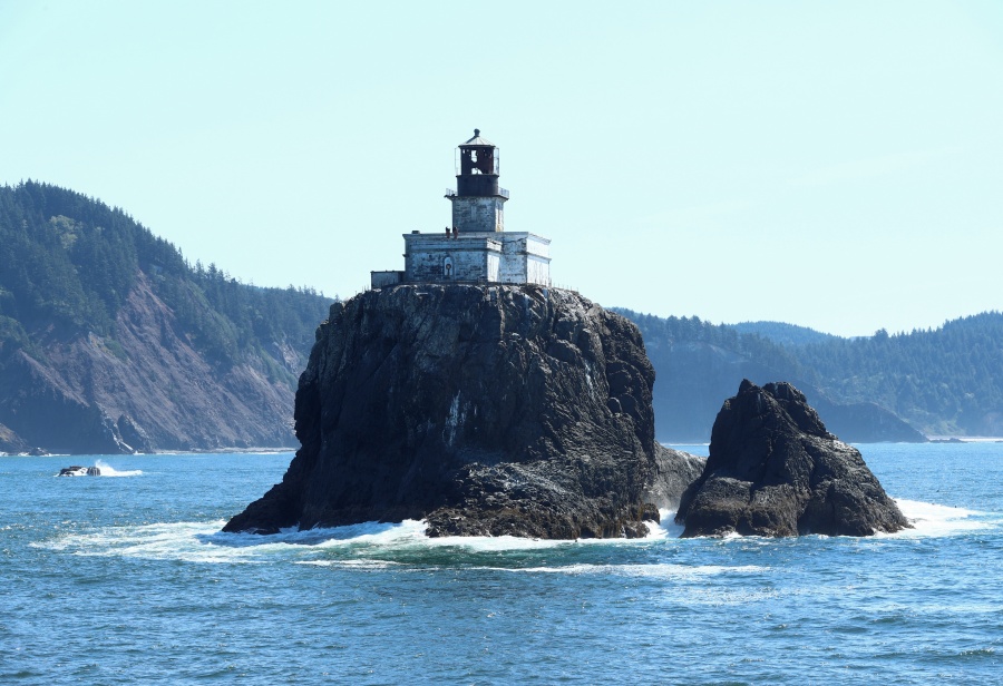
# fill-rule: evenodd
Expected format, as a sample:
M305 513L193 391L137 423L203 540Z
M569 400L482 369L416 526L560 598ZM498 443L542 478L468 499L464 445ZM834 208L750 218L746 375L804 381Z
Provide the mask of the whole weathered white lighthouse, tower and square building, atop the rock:
M434 232L403 234L403 271L372 272L373 288L401 283L551 285L551 241L530 232L505 231L499 150L474 129L456 150L456 189L446 192L451 223Z

